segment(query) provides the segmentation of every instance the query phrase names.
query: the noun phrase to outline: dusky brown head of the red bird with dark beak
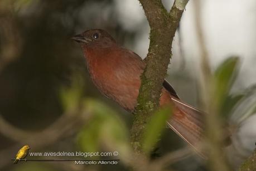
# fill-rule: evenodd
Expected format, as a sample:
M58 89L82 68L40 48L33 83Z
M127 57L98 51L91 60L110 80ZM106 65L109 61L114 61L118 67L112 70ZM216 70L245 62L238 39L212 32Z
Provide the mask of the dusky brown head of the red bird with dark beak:
M83 33L72 37L72 39L81 44L84 50L88 48L108 48L115 45L115 40L108 32L100 29L86 30Z

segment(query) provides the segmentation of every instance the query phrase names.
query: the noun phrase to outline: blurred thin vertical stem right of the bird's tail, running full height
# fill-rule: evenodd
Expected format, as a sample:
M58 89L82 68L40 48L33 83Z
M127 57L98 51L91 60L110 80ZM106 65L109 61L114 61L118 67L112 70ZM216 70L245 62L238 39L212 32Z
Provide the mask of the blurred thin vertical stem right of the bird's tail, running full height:
M206 141L209 148L209 164L211 170L229 170L225 155L223 155L223 134L221 131L221 120L219 118L218 103L215 102L215 87L210 70L209 55L202 31L201 23L201 1L194 1L196 33L199 38L201 56L201 105L206 111Z

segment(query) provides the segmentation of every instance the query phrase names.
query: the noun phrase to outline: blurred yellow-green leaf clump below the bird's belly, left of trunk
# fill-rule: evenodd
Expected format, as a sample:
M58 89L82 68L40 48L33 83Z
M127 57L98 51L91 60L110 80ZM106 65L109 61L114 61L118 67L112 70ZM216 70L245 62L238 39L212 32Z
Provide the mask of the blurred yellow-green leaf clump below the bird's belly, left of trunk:
M86 99L86 110L93 115L78 135L78 144L85 152L97 152L100 145L127 153L128 130L115 111L94 99Z

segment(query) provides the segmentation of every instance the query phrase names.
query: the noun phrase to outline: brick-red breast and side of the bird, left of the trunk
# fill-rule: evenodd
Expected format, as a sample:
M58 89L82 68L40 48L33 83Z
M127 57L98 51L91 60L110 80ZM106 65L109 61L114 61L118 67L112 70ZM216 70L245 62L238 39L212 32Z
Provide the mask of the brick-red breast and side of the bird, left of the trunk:
M132 63L123 63L120 58L105 57L88 60L91 79L102 94L132 111L136 105L142 71Z

